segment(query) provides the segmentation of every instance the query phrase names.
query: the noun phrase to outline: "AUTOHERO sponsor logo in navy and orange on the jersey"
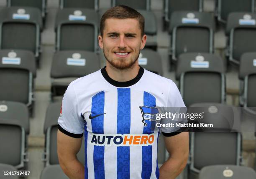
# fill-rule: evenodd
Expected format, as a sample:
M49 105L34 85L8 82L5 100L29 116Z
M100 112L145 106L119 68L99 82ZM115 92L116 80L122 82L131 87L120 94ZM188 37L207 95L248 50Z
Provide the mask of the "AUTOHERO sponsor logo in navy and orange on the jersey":
M147 146L154 143L154 134L92 134L90 144L97 146Z

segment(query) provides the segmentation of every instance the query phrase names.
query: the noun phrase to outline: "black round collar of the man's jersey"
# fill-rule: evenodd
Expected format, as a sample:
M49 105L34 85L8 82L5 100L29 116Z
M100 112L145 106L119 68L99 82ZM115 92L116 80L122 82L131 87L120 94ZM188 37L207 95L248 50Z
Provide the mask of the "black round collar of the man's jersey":
M115 87L129 87L129 86L136 84L141 79L141 77L144 73L144 68L142 68L140 66L138 75L135 78L133 78L132 80L127 81L127 82L118 82L118 81L115 81L112 78L110 78L108 76L106 66L104 68L102 68L100 71L101 71L102 76L105 78L105 80L107 80L107 82L109 82L111 85L114 85Z

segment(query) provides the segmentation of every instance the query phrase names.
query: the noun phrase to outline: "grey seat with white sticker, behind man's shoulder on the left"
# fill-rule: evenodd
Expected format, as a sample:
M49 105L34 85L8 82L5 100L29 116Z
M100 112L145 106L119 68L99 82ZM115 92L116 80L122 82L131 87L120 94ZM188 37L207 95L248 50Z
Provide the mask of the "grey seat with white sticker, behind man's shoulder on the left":
M97 70L100 70L100 58L94 52L56 52L51 65L52 97L63 97L71 81Z

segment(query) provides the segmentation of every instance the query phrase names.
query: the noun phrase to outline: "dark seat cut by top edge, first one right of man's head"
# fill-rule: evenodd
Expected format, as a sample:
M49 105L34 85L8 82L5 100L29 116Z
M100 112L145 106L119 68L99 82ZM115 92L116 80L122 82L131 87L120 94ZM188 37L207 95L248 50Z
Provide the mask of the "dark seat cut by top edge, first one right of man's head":
M172 12L183 10L202 12L203 0L164 0L164 29L169 24Z

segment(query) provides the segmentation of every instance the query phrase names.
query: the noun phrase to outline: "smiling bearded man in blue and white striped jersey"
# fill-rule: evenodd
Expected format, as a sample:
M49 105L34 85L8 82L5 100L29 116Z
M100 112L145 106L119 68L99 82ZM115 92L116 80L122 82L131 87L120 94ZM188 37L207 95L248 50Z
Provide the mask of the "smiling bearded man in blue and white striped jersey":
M138 65L144 18L127 6L105 12L98 37L106 67L73 81L59 117L58 156L71 179L174 179L188 157L188 133L163 133L169 159L157 166L159 129L143 109L184 107L172 80ZM144 108L143 108L144 107ZM84 134L85 164L77 160Z

